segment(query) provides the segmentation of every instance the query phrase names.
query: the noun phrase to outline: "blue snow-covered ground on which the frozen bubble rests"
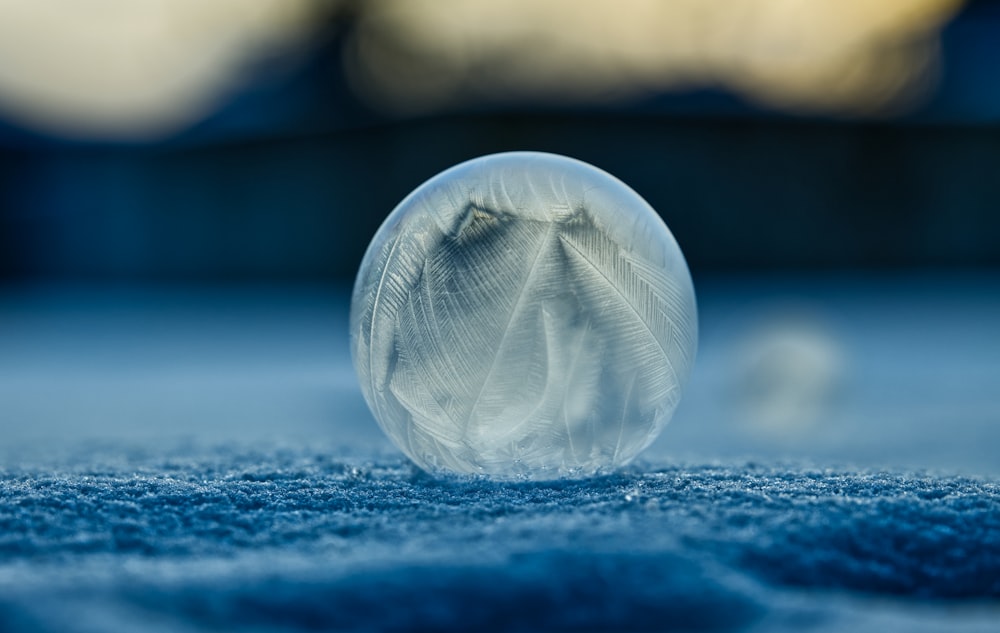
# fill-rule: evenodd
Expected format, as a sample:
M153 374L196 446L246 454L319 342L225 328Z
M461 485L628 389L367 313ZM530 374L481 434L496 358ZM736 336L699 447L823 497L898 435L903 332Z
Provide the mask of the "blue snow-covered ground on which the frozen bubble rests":
M698 284L625 472L441 480L344 288L0 293L0 631L995 631L1000 279Z

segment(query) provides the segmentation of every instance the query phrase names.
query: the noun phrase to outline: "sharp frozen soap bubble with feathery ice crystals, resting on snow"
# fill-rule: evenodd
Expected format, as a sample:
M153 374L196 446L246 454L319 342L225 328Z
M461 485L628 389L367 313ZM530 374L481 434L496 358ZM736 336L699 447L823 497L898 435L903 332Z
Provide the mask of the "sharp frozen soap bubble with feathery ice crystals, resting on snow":
M656 212L535 152L431 178L372 240L351 353L379 425L425 470L552 479L634 458L695 355L694 289Z

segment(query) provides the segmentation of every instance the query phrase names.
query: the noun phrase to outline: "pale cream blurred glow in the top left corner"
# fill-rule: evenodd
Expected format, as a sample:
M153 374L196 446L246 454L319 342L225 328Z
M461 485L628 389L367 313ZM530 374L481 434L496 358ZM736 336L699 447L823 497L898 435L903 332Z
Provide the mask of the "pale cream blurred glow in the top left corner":
M155 137L208 113L315 0L0 0L0 109L66 136Z

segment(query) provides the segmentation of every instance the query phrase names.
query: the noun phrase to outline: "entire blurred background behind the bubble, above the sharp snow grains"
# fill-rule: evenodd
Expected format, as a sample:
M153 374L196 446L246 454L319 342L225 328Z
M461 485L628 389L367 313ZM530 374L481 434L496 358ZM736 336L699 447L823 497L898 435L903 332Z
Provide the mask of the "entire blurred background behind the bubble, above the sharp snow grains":
M694 274L652 458L996 474L998 60L987 0L0 0L0 442L390 450L364 249L440 170L540 150Z

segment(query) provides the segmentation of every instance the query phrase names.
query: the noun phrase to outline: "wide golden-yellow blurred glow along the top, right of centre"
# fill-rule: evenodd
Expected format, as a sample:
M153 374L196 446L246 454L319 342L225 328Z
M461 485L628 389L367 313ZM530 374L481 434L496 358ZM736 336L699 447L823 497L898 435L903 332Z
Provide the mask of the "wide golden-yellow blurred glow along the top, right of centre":
M723 86L796 111L875 113L930 77L960 0L382 0L357 87L426 111L469 99L610 100Z

